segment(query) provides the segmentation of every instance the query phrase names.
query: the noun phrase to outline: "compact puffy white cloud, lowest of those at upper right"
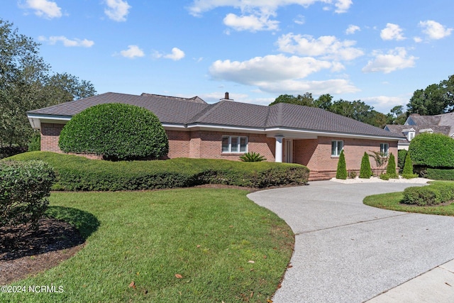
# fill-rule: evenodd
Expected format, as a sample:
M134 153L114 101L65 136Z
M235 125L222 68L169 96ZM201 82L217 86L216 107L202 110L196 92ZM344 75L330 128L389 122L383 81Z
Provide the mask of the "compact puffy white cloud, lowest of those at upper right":
M372 55L375 56L375 59L367 62L367 65L362 68L362 72L389 74L389 72L394 72L395 70L414 67L416 59L418 59L407 55L405 48L394 48L394 50L389 50L387 54L375 51Z

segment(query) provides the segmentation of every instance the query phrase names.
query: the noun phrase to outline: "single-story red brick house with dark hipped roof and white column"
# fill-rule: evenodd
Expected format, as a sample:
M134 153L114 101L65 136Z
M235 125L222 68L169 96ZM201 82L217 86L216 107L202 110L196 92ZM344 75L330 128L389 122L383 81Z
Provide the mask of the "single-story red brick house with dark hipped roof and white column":
M255 152L267 161L306 165L311 170L309 180L334 177L341 150L348 170L359 171L364 152L397 154L397 141L403 138L323 109L245 104L229 99L228 93L216 104L206 104L199 97L108 92L28 111L31 125L41 132L41 150L61 153L58 139L65 123L90 106L106 103L153 111L169 138L168 158L239 160L243 153Z

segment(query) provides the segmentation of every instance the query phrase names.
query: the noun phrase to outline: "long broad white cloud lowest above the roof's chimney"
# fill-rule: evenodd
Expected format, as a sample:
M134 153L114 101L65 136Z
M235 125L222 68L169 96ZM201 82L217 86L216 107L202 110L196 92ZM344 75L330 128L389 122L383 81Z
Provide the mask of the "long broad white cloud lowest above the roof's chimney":
M311 57L267 55L243 62L217 60L211 65L209 72L214 79L253 85L263 92L278 94L308 91L314 94L357 92L358 89L345 79L304 80L314 72L333 67L336 67L336 64Z

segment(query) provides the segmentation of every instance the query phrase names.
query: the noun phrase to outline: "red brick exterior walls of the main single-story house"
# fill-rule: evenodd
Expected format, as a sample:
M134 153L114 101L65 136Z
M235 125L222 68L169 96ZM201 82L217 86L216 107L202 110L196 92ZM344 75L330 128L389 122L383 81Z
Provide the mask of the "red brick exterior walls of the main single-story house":
M58 138L64 124L41 123L41 150L62 153ZM166 131L169 138L168 158L211 158L239 160L243 153L222 153L222 136L247 136L248 151L260 153L267 161L275 161L275 138L265 134L228 133L223 131ZM397 141L374 141L352 138L319 137L293 141L293 162L306 165L313 171L325 171L336 175L338 157L331 157L331 141L343 140L347 170L360 170L364 152L380 151L380 143L389 143L389 153L397 160ZM370 158L372 168L375 161Z

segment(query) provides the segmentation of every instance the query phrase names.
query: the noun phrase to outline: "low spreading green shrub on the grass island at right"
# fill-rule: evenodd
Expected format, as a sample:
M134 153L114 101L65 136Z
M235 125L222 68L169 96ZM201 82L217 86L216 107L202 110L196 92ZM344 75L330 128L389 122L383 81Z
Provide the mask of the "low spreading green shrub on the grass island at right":
M437 183L423 187L407 187L404 189L404 204L433 206L450 202L454 199L454 184Z

